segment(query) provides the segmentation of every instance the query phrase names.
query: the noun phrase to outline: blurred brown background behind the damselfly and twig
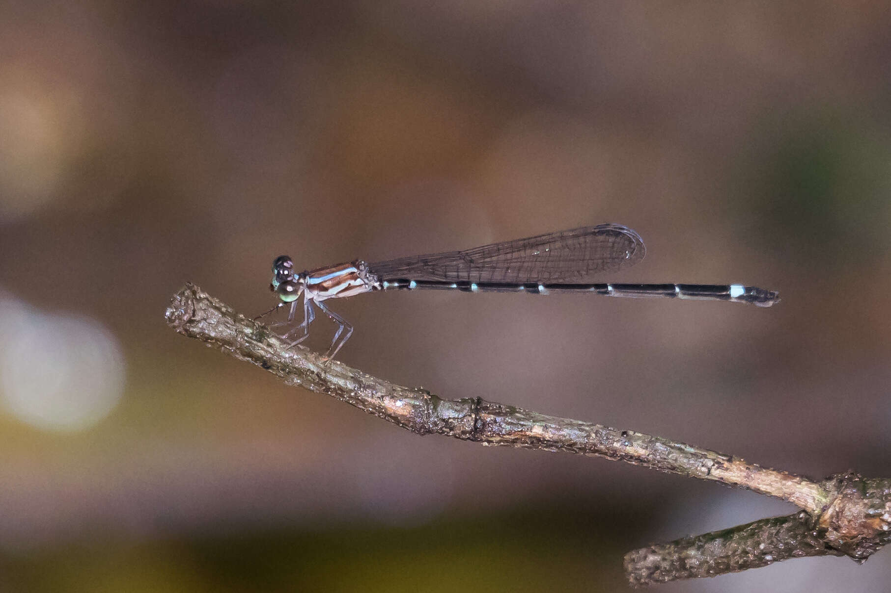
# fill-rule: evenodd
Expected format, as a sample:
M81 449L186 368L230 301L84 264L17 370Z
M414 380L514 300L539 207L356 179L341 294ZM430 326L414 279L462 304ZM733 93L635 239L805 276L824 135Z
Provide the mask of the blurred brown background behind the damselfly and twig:
M624 223L605 280L772 309L398 293L339 358L449 398L891 475L887 3L0 4L0 590L624 590L794 508L421 438L166 328L186 280ZM309 345L333 326L316 321ZM660 591L885 589L891 554Z

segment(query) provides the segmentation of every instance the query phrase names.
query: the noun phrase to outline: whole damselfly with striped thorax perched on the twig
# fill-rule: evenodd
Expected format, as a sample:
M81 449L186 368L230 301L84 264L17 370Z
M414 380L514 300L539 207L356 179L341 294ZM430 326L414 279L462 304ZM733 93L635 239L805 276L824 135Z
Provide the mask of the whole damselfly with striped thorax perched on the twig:
M333 358L353 334L353 326L324 301L374 290L462 290L464 292L587 292L631 298L681 298L733 301L769 307L779 301L772 290L741 284L615 284L589 283L600 272L615 271L643 259L641 236L621 224L598 224L569 231L493 243L465 251L409 256L366 264L363 260L294 272L289 256L273 262L273 290L281 302L267 313L290 304L293 324L303 295L303 321L284 337L297 345L309 336L317 306L338 325L326 358ZM266 313L264 313L266 314ZM261 315L262 317L263 315Z

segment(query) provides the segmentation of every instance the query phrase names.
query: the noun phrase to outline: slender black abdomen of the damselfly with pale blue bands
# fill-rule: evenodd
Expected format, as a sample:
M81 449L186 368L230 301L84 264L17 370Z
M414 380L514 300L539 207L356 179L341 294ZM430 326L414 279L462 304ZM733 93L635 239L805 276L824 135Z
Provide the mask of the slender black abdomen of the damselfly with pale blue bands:
M427 288L433 290L461 290L462 292L527 292L545 295L552 292L593 292L606 296L640 298L680 298L740 301L766 304L773 296L760 288L745 287L741 284L613 284L597 282L590 284L569 284L550 282L447 282L443 280L410 280L400 278L386 280L381 284L385 290L413 290Z

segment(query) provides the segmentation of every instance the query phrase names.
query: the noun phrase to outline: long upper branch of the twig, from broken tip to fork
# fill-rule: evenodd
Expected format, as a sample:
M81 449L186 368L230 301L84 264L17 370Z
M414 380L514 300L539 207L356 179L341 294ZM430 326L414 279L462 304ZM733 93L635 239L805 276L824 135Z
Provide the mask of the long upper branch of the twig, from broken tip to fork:
M347 367L323 362L306 348L287 344L265 326L187 286L174 297L168 323L180 333L217 345L284 379L329 394L413 433L454 436L489 445L596 455L660 471L714 480L769 494L817 511L829 500L821 484L797 475L758 467L715 451L674 443L658 436L545 416L475 397L443 400L429 392L397 386Z

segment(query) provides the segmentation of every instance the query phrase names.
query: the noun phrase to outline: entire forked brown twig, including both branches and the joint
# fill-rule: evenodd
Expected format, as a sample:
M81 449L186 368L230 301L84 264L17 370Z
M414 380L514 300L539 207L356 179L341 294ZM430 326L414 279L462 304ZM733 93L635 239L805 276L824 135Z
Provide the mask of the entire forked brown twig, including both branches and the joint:
M726 532L635 550L625 556L625 569L633 584L710 576L789 556L844 554L865 559L889 540L891 481L863 481L848 474L813 482L658 436L546 416L481 397L444 400L423 389L374 378L338 361L326 362L301 346L289 348L266 326L235 313L192 284L173 297L166 318L168 325L184 336L198 338L269 370L288 385L329 394L418 435L435 433L486 445L622 460L748 488L789 500L805 510L805 515L767 519ZM765 548L758 549L767 549L767 540L771 539L774 548L783 544L778 549L800 553L758 556L753 552L762 544ZM798 542L797 546L791 545L792 540ZM695 558L695 569L684 558Z

